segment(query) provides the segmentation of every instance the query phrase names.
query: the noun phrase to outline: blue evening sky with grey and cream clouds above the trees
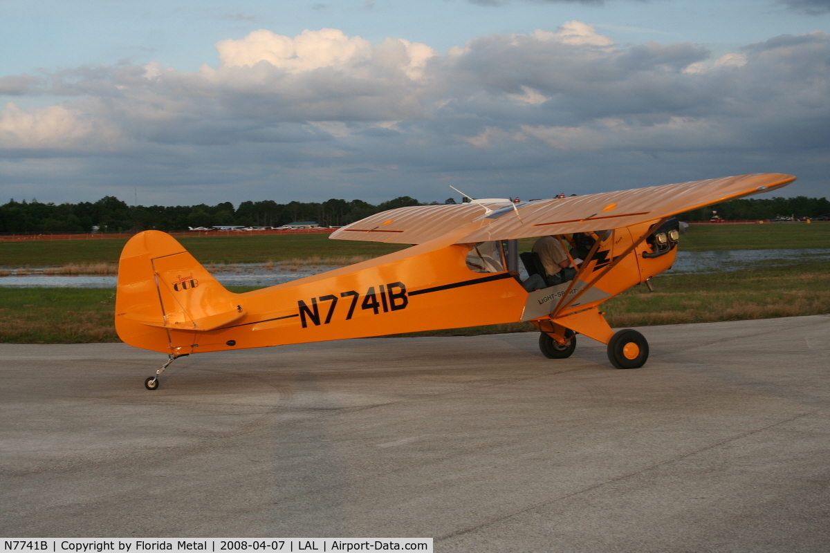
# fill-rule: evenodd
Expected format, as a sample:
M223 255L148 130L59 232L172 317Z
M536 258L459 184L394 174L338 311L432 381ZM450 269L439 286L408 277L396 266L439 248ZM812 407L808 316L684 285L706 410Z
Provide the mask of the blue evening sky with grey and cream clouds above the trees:
M0 202L830 192L830 0L3 0Z

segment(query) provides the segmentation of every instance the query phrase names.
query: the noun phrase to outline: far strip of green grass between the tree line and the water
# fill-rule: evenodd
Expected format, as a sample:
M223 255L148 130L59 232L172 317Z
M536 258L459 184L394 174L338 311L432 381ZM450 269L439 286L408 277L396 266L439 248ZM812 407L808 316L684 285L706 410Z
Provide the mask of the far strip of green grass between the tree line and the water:
M530 250L535 239L522 240ZM183 238L182 245L203 264L266 263L310 257L377 257L405 245L330 240L328 235L271 235ZM61 266L117 263L126 240L0 242L0 266ZM830 248L830 222L769 225L695 225L681 237L681 249L766 250Z

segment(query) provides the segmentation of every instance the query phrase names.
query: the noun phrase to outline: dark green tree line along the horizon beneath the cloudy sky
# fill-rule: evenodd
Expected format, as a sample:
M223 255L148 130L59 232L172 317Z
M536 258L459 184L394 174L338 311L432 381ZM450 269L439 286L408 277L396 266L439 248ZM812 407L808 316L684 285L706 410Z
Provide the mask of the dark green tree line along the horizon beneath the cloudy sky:
M447 203L454 203L452 199ZM432 202L432 205L437 202ZM344 226L380 211L405 206L423 206L409 196L384 201L377 206L362 200L331 199L322 202L243 201L234 208L230 201L216 206L128 206L115 196L76 204L9 201L0 206L0 233L66 233L138 230L188 230L197 226L283 226L294 221L317 221L320 226ZM774 219L776 216L818 217L830 214L827 198L745 198L702 207L678 216L681 221L708 221L713 211L721 219Z

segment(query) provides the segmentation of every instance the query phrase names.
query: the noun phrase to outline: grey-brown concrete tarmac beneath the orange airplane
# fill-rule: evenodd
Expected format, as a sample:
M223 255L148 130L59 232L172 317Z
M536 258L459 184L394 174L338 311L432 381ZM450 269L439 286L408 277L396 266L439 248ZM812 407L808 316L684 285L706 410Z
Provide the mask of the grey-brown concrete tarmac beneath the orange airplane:
M830 551L830 315L185 357L0 345L0 534Z

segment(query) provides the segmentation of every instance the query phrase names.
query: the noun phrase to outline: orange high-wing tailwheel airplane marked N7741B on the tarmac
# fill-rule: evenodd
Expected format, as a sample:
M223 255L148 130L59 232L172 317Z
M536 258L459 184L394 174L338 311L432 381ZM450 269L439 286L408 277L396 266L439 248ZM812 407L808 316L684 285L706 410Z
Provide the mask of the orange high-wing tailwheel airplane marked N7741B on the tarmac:
M121 253L115 329L131 346L168 354L144 382L148 390L174 359L192 353L517 321L539 327L545 357L569 357L583 334L608 344L613 366L637 368L648 357L646 338L630 328L613 332L599 306L635 284L651 288L649 279L671 267L673 216L794 180L764 173L520 203L402 207L330 237L412 247L246 293L229 292L170 235L147 230ZM576 274L527 292L518 239L548 235L562 241ZM525 264L534 272L532 259Z

